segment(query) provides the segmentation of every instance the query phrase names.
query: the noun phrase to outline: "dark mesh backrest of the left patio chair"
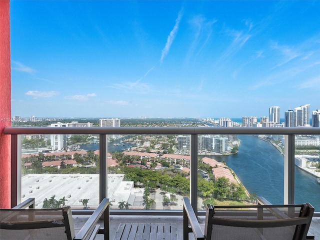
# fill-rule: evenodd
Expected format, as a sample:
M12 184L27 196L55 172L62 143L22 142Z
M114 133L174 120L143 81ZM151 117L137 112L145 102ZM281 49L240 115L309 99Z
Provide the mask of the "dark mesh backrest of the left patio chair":
M0 209L0 239L67 239L75 236L71 208Z

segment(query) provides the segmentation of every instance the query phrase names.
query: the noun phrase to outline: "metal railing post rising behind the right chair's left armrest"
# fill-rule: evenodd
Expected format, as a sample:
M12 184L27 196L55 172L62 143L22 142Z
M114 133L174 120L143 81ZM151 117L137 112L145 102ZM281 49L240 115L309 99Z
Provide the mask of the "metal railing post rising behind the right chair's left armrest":
M198 135L191 134L190 141L190 201L191 206L197 215L198 199Z

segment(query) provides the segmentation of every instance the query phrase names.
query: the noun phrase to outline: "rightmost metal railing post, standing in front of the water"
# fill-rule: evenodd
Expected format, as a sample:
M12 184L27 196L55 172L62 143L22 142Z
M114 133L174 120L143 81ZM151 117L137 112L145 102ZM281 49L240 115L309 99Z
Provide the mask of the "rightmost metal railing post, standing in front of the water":
M294 134L284 135L284 204L294 203Z

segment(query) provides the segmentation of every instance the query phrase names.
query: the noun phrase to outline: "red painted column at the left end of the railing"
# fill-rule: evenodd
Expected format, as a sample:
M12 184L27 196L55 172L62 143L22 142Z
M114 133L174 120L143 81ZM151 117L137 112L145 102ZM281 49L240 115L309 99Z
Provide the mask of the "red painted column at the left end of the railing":
M11 126L10 14L9 0L0 0L0 207L10 206Z

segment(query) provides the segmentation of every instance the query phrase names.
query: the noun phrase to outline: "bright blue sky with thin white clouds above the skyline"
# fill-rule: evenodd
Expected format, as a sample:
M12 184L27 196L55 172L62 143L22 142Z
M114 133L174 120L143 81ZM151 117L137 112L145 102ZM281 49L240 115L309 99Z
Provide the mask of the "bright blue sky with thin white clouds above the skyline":
M320 108L320 1L11 0L12 115Z

